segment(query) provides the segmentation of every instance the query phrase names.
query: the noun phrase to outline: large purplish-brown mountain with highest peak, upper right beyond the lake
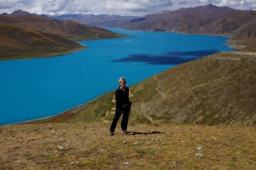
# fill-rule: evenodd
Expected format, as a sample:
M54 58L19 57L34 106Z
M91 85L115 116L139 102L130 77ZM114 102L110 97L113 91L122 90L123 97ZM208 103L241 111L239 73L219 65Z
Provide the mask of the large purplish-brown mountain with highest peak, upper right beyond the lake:
M243 11L214 5L183 8L160 14L143 16L146 20L125 21L121 26L135 30L175 31L191 34L211 34L231 37L245 50L256 47L256 11Z

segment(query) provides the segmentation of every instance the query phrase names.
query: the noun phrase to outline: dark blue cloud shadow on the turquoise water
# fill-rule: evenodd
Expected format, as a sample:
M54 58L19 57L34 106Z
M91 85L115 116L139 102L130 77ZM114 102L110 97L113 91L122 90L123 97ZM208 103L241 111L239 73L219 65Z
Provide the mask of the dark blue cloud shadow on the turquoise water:
M129 57L114 59L113 62L144 62L148 65L179 65L193 59L219 52L217 49L196 51L175 51L166 54L131 54Z

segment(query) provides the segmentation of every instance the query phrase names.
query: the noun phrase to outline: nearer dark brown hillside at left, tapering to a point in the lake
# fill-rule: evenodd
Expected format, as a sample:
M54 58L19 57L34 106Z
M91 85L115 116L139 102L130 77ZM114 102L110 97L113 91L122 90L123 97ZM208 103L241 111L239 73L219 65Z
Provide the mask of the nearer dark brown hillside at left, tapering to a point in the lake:
M51 55L83 48L64 37L36 31L26 26L0 24L0 37L4 42L0 44L0 59Z

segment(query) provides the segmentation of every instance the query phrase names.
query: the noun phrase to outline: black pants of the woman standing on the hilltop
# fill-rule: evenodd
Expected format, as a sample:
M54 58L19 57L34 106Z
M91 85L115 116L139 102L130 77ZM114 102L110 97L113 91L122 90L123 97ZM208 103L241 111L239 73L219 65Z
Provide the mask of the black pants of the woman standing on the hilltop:
M116 109L114 117L113 117L113 122L112 122L111 127L110 127L110 131L114 132L116 124L117 124L117 122L119 122L119 117L122 114L123 114L123 117L122 117L122 122L121 122L121 128L122 128L122 130L126 130L127 129L127 125L128 125L129 113L130 113L130 108L125 109L125 110L118 110L118 109Z

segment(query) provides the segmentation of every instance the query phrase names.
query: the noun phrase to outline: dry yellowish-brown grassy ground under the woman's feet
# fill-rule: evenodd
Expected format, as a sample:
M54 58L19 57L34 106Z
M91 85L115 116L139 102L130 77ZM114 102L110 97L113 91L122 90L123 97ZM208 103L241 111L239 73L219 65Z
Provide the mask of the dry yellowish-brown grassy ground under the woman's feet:
M108 123L1 126L0 169L255 169L256 129Z

